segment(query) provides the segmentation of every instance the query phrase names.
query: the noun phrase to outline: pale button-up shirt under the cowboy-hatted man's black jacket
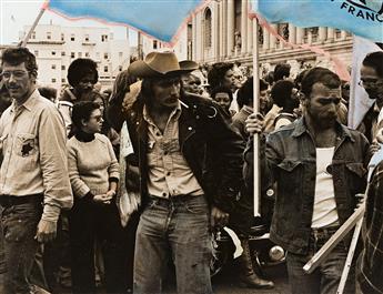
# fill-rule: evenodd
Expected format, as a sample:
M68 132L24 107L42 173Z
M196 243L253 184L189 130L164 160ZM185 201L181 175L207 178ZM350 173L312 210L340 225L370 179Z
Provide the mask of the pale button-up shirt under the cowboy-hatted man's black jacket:
M171 112L163 133L143 108L148 122L148 192L150 195L170 197L202 195L203 190L181 153L179 118L181 105Z

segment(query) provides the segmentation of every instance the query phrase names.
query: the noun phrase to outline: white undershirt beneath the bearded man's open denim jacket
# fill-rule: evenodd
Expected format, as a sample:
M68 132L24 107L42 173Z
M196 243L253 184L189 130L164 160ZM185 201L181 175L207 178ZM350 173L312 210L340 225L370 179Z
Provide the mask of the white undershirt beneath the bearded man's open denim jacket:
M339 223L334 183L326 169L332 163L335 148L316 148L316 180L312 229Z

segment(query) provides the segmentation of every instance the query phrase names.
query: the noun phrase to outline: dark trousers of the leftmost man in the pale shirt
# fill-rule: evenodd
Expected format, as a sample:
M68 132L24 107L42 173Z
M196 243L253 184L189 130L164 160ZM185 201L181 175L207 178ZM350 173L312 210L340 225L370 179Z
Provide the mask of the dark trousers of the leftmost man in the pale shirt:
M1 223L7 272L4 292L7 294L29 294L34 255L38 242L34 240L42 205L39 201L3 206Z

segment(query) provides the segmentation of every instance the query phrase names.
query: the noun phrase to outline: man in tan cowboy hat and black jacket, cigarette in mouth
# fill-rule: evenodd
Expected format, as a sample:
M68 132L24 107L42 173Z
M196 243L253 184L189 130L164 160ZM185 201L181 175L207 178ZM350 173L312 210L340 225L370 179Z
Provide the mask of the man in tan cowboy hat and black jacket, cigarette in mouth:
M196 68L172 52L152 52L129 67L142 78L124 118L134 150L127 162L139 168L142 195L134 293L161 293L169 258L178 293L212 293L210 220L228 221L244 146L218 104L183 92L181 75Z

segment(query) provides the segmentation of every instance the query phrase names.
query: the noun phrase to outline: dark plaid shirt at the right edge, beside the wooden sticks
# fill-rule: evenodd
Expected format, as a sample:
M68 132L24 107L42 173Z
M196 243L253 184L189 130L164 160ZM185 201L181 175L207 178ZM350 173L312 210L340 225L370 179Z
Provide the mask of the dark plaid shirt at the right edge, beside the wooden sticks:
M383 161L375 168L364 216L359 282L364 294L383 293Z

